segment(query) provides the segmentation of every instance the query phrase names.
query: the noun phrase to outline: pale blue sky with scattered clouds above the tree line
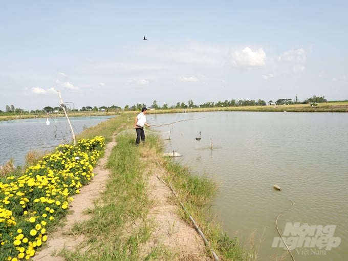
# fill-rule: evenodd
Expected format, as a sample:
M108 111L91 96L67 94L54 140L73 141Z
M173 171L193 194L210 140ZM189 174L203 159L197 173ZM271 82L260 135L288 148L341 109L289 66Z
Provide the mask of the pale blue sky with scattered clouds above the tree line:
M348 99L346 1L0 0L0 110ZM143 40L144 35L147 40Z

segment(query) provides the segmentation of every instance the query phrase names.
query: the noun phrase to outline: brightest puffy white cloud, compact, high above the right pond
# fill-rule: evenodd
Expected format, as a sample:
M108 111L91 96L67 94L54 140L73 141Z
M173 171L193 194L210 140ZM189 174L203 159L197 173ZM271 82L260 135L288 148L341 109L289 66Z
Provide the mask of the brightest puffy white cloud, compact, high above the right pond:
M231 57L233 68L250 70L255 67L265 66L266 53L263 49L252 51L249 47L240 52L234 52Z

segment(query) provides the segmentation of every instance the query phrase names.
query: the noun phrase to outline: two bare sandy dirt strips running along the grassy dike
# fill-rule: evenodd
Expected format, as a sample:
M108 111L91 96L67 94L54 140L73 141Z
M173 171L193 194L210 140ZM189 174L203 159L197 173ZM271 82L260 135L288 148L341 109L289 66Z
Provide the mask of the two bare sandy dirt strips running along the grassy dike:
M70 209L72 213L67 215L66 222L60 229L50 234L47 246L35 254L33 260L62 261L63 257L55 256L63 248L74 251L84 238L82 235L69 233L75 222L89 219L84 210L93 207L93 201L103 191L109 175L105 168L112 147L116 145L115 135L113 141L106 144L103 158L98 160L94 169L93 181L80 189L80 194L74 195L74 201ZM148 175L149 198L154 201L149 210L148 219L153 222L155 229L150 240L143 246L143 251L149 251L157 244L161 244L176 253L178 260L212 260L205 252L202 237L195 229L185 223L177 214L179 205L170 197L171 190L159 179L163 172L158 166L151 168L152 173Z

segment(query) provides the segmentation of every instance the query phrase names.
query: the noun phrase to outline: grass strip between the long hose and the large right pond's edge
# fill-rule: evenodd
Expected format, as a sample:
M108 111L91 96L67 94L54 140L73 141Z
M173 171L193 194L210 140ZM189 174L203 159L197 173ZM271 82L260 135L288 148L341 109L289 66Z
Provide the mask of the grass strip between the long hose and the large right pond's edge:
M217 255L223 260L256 260L257 248L253 234L248 244L242 244L238 238L230 238L224 233L220 224L209 213L209 204L217 190L216 184L207 177L193 176L189 168L175 161L166 161L165 168L170 173L166 182L170 182L176 188L176 192L181 195L185 208L199 224ZM188 224L191 223L184 210L180 214Z

